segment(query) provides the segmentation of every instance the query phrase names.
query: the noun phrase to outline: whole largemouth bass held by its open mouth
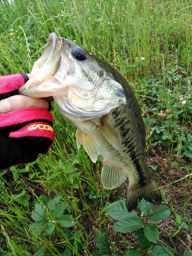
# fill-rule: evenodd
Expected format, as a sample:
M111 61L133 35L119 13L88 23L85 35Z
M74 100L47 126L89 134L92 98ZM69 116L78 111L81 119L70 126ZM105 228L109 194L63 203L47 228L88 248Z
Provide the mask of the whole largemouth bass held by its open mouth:
M19 94L53 97L60 113L77 128L77 148L82 145L94 163L99 155L103 157L104 188L114 189L128 178L129 212L142 198L162 201L146 164L149 126L132 89L116 69L74 41L51 33L31 74Z

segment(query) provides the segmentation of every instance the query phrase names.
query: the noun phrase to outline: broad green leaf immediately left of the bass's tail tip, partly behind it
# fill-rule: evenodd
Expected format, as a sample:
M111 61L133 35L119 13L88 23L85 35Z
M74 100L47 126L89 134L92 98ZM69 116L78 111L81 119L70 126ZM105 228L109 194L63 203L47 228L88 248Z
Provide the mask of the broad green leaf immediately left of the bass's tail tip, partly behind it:
M109 204L105 210L114 220L127 219L130 216L129 211L127 211L126 208L125 201L116 201Z

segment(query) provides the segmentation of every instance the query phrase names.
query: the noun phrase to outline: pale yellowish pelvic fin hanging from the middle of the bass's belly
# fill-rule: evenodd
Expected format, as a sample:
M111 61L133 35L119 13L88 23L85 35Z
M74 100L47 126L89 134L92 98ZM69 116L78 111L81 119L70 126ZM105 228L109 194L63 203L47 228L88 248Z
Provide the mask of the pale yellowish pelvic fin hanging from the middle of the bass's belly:
M99 152L93 139L90 138L87 134L82 133L78 129L76 131L75 137L77 141L77 148L79 149L80 145L82 144L84 150L88 153L91 160L95 163L99 156Z

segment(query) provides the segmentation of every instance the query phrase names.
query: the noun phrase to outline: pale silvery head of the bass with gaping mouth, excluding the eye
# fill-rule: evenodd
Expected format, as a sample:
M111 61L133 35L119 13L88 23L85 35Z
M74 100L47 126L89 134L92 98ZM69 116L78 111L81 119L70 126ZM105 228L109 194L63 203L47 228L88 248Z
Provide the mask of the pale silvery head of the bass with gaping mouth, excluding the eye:
M74 57L76 49L87 53L84 62ZM34 98L52 96L64 116L97 117L126 104L121 84L105 73L98 59L55 33L49 35L44 53L35 61L31 74L34 76L18 93Z

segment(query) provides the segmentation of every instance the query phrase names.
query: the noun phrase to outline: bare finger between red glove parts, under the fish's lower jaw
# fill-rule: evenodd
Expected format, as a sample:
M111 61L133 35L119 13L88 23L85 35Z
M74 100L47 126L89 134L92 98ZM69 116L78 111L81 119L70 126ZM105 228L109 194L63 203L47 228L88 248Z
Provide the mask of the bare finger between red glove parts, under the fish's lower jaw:
M32 98L24 95L14 95L0 101L0 113L5 114L13 110L26 108L49 108L47 99Z

